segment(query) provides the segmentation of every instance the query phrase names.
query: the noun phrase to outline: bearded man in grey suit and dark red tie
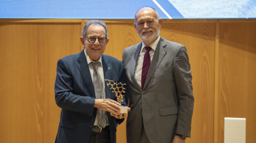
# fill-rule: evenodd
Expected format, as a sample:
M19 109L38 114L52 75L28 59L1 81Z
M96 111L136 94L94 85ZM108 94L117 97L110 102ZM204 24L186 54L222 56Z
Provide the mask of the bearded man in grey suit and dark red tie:
M144 7L134 27L142 43L123 50L128 143L185 142L190 137L194 105L192 75L186 47L159 35L163 20Z

